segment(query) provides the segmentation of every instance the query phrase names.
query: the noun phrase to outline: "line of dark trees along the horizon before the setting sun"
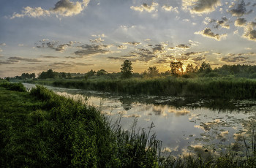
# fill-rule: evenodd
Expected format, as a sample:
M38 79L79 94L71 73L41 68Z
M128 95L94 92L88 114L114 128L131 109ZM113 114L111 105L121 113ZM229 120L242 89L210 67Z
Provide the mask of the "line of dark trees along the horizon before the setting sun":
M227 75L232 75L234 77L247 77L247 78L256 78L256 66L252 65L223 65L221 67L212 69L209 63L203 62L200 66L193 66L193 64L184 64L181 61L171 61L170 70L165 72L159 72L157 66L149 66L147 70L142 73L133 72L132 62L125 60L121 64L120 72L109 73L105 69L100 69L94 71L93 69L89 70L85 74L80 73L66 73L66 72L53 72L53 69L48 69L46 72L40 72L38 74L38 79L90 79L97 77L105 77L106 79L127 79L130 77L222 77ZM15 80L26 80L26 79L35 79L36 75L34 73L23 73L21 76L12 77L11 79Z

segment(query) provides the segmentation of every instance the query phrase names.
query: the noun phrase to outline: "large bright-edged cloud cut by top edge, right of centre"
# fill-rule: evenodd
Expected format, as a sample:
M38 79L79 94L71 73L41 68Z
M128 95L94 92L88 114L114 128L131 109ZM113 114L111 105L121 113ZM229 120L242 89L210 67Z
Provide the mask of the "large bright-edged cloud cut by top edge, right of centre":
M192 14L213 12L221 5L219 0L182 0L184 10L189 10Z

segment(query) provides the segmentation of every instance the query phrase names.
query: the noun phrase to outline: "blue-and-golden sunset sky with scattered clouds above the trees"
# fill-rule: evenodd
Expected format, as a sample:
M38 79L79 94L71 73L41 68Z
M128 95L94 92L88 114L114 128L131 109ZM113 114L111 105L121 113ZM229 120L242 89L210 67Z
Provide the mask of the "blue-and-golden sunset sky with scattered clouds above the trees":
M256 0L1 0L0 77L256 62Z

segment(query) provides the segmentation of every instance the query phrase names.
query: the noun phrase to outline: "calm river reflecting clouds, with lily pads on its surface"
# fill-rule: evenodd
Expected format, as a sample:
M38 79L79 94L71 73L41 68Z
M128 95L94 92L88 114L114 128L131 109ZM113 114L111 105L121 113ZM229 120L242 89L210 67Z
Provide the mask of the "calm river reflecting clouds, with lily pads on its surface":
M23 83L26 88L35 85ZM175 96L129 96L99 91L45 86L61 96L93 105L124 130L154 124L162 152L173 156L214 155L233 150L245 156L255 128L256 100L188 99Z

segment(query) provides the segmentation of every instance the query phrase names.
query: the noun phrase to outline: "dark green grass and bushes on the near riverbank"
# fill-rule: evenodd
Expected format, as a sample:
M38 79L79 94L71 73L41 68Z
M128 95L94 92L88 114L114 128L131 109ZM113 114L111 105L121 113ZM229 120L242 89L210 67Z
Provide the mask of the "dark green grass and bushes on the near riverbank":
M150 130L122 131L94 107L42 86L29 93L20 83L0 82L0 167L256 166L255 152L243 161L232 152L206 159L164 158Z

